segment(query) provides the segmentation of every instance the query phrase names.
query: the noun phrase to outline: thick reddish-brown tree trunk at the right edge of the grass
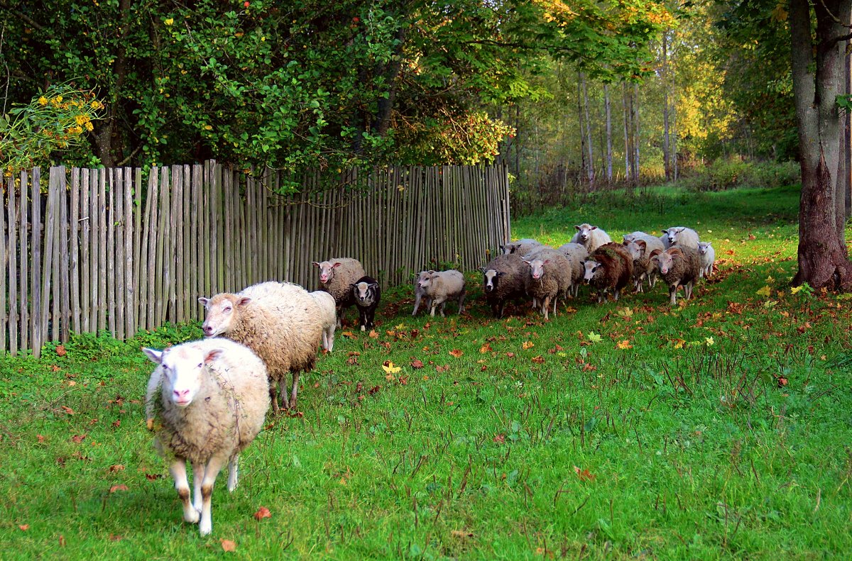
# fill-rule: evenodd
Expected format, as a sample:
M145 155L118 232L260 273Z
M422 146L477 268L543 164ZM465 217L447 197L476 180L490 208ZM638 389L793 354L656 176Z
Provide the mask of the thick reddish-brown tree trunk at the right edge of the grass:
M793 95L802 169L795 286L852 288L852 262L844 238L843 123L837 105L837 96L845 90L843 58L849 34L841 22L849 21L850 5L852 0L814 3L814 40L808 0L790 3Z

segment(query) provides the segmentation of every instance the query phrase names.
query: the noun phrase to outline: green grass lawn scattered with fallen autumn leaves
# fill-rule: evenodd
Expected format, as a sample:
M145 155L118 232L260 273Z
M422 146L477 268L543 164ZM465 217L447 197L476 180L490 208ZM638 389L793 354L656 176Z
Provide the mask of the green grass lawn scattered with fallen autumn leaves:
M469 314L412 318L387 290L377 336L338 331L303 416L270 415L233 495L220 477L207 538L141 404L139 348L198 326L0 359L0 557L848 558L849 300L786 286L797 197L660 188L515 223L555 244L694 226L721 271L674 309L659 285L581 290L550 322L496 321L470 273Z

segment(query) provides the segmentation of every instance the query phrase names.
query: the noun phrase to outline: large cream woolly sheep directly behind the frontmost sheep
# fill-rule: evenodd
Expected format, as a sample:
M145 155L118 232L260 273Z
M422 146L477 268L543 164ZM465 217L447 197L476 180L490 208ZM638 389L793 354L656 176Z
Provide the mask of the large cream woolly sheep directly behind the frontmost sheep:
M199 302L206 309L204 336L224 335L248 346L266 362L276 413L276 386L283 399L287 373L292 373L288 406L296 409L299 373L314 368L323 334L320 307L308 291L298 284L268 282L238 294L202 297Z

